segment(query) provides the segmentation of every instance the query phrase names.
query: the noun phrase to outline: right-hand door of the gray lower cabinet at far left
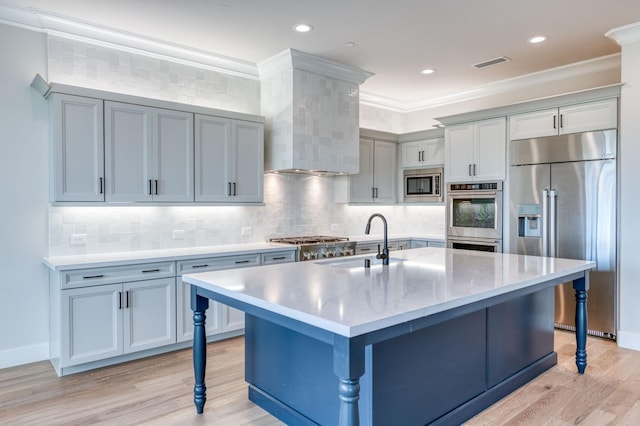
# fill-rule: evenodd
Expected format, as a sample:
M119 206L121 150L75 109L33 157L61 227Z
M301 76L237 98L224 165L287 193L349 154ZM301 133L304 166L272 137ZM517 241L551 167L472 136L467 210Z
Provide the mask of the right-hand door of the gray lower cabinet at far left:
M123 285L124 353L176 342L176 279Z

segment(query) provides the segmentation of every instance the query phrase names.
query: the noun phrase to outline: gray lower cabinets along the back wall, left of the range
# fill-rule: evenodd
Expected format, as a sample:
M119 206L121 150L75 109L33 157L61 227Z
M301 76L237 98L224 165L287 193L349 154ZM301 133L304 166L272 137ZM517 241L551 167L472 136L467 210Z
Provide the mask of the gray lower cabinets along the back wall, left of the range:
M186 346L193 337L189 285L182 275L295 262L296 249L49 274L49 358L59 376ZM217 302L207 335L242 334L244 312Z

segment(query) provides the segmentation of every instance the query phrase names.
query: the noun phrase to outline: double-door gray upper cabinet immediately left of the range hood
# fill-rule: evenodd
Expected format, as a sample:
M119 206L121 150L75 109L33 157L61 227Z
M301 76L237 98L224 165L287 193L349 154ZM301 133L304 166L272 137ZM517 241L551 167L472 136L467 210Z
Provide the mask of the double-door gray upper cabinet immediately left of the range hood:
M196 114L196 201L263 200L264 125Z

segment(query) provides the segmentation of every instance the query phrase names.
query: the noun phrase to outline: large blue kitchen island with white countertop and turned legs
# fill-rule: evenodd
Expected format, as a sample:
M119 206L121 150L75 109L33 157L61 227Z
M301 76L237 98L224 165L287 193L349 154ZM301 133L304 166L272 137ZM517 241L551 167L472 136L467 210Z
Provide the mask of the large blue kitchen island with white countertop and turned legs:
M594 262L421 248L183 276L194 401L206 401L209 298L245 311L249 398L287 424L455 424L557 362L553 287L573 281L586 367Z

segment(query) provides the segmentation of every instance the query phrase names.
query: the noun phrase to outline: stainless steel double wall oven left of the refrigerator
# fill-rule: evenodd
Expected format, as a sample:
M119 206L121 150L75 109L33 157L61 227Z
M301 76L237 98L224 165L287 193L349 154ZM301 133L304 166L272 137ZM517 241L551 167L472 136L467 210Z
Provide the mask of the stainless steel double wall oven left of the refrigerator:
M502 251L502 182L449 184L447 241L453 248Z

